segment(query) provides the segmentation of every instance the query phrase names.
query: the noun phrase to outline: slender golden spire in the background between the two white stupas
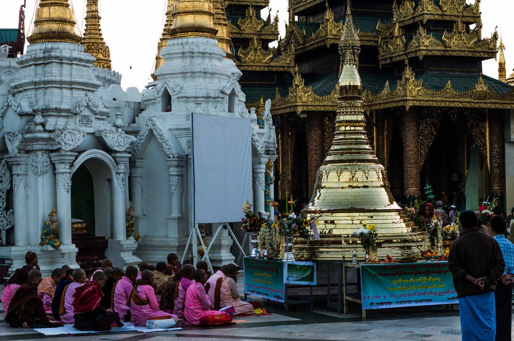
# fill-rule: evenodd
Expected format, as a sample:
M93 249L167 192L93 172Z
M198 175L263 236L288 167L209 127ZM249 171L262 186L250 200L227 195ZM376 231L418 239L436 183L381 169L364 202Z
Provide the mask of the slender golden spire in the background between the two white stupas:
M97 59L94 66L111 70L111 51L103 41L98 0L87 0L86 6L86 28L81 43L84 45L84 52L91 53Z

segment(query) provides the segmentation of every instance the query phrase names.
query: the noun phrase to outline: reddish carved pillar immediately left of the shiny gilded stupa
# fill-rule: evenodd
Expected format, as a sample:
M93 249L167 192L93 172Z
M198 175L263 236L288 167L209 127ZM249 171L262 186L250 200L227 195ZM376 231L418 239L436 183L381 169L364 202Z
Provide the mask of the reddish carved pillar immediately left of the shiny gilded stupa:
M325 159L325 135L323 134L323 115L321 112L311 112L307 115L307 137L308 155L308 196L313 195L316 183L316 174Z

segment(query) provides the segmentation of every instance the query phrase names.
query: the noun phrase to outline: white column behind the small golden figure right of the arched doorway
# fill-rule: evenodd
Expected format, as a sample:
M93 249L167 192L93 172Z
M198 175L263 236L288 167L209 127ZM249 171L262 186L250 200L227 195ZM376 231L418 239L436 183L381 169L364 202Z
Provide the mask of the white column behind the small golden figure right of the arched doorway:
M143 166L144 160L135 159L128 162L128 187L132 193L132 205L134 206L134 227L140 236L146 236L145 216L143 215Z

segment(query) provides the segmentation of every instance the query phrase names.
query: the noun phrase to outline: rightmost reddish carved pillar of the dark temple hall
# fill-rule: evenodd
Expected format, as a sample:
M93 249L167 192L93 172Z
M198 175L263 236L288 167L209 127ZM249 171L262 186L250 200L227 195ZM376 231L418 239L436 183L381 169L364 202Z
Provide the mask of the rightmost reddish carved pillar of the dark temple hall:
M504 192L503 115L489 109L489 194L500 197ZM494 204L494 203L493 203Z

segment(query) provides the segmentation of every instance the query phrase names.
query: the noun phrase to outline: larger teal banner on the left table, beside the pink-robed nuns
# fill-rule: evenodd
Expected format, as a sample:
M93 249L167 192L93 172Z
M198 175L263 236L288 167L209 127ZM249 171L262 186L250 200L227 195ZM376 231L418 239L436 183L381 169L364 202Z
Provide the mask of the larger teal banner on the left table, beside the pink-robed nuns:
M284 301L284 263L245 257L245 294Z

